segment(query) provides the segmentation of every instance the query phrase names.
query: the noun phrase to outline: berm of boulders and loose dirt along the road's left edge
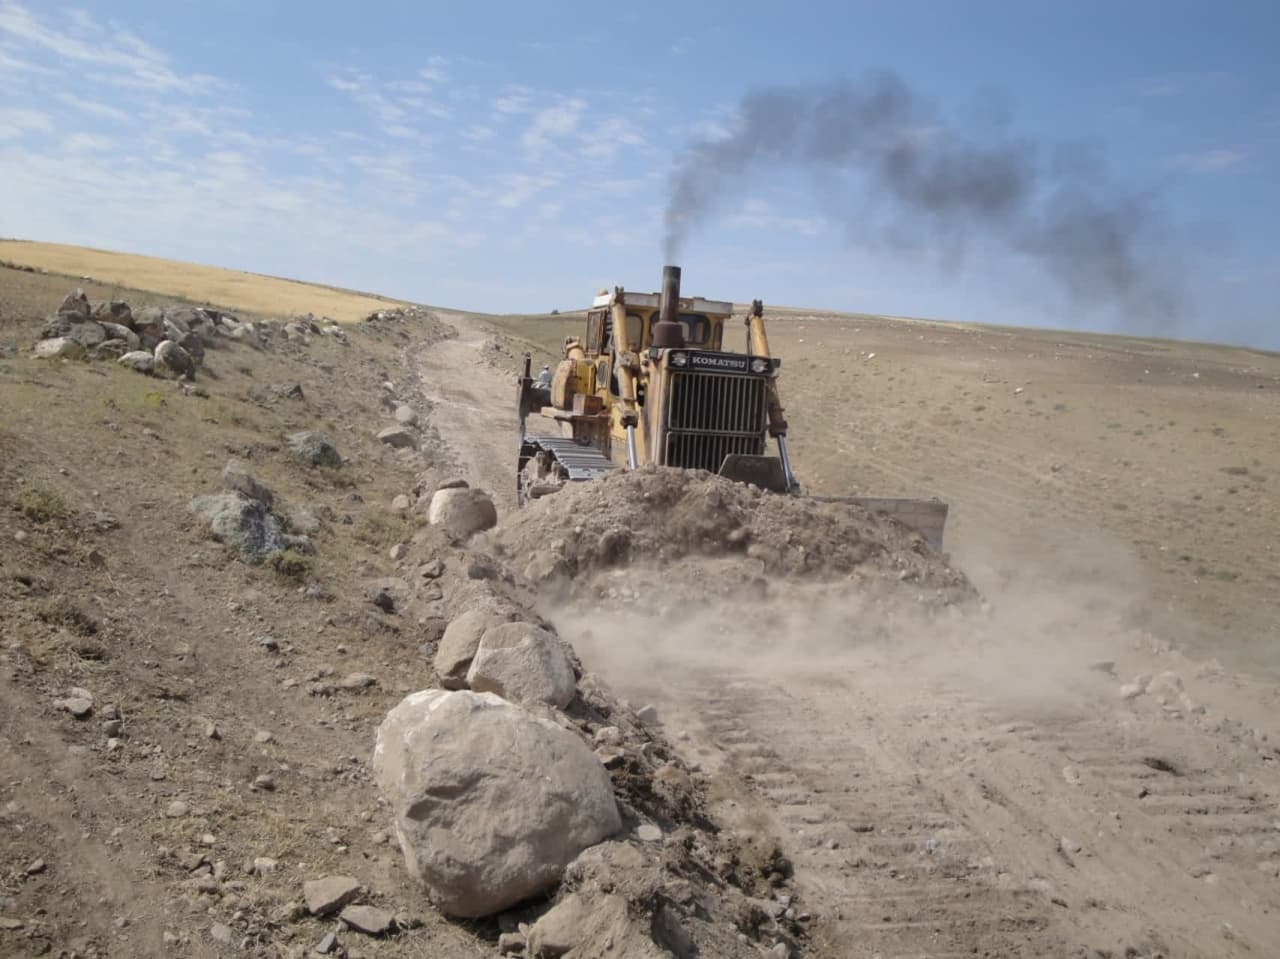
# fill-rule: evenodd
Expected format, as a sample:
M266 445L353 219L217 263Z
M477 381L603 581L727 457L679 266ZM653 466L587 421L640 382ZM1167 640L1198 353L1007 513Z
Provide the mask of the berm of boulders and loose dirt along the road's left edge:
M502 954L790 950L803 926L759 905L788 889L773 840L718 830L660 727L585 673L531 586L483 552L508 533L481 535L489 497L420 485L426 522L367 595L419 625L435 675L387 714L372 758L407 872L445 914L497 915Z

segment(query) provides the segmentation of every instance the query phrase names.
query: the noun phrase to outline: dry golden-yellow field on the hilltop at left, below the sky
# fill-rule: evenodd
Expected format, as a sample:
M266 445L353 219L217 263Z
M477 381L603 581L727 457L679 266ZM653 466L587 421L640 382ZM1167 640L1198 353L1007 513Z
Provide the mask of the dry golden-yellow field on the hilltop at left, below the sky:
M399 302L219 266L24 239L0 239L0 261L268 316L311 312L355 323L374 310Z

